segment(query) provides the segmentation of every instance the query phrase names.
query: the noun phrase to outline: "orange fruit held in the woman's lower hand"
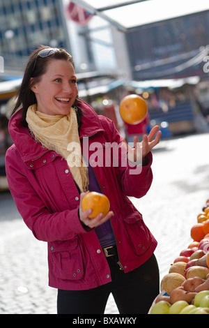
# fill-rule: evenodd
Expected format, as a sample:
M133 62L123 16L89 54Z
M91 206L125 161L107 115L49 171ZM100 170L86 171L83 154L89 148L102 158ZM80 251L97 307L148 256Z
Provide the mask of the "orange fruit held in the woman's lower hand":
M98 216L100 213L105 216L109 212L109 207L109 199L102 193L91 191L86 193L82 199L82 210L86 211L87 209L92 209L92 212L88 218L95 218L95 216Z

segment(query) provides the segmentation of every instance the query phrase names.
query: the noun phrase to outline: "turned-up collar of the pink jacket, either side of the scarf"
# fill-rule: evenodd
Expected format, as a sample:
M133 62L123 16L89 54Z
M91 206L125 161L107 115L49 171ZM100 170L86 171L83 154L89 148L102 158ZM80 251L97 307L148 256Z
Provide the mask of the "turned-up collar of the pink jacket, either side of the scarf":
M100 119L95 111L83 101L79 103L79 107L83 110L82 126L79 131L79 137L91 137L95 133L104 131L100 123ZM33 140L29 129L21 124L22 109L17 110L10 119L8 129L17 151L24 162L39 158L48 150L43 148L40 143Z

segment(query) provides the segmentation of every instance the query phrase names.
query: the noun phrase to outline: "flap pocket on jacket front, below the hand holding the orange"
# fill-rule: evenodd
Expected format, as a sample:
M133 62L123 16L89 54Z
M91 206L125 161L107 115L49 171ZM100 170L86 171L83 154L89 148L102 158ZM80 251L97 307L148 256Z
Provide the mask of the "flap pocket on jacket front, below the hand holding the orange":
M52 256L54 275L67 280L81 279L84 275L84 266L78 239L53 244L49 246L49 252Z

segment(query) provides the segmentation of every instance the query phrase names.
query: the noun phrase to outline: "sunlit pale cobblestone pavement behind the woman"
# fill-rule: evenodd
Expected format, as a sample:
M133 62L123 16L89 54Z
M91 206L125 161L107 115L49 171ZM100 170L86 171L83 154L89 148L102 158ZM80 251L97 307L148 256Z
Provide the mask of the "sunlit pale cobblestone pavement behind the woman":
M158 241L160 276L191 241L209 198L209 133L162 140L153 151L153 185L131 198ZM0 314L54 314L56 290L47 286L47 246L33 237L10 193L0 193ZM109 297L106 314L117 314Z

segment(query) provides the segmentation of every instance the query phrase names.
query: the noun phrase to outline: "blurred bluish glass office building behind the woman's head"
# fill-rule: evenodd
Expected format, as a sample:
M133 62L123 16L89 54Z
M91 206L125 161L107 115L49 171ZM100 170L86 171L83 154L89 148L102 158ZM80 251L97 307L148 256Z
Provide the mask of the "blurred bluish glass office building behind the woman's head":
M18 67L38 45L70 51L62 0L1 0L0 55L5 67Z

